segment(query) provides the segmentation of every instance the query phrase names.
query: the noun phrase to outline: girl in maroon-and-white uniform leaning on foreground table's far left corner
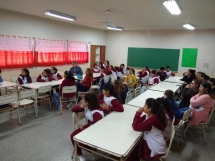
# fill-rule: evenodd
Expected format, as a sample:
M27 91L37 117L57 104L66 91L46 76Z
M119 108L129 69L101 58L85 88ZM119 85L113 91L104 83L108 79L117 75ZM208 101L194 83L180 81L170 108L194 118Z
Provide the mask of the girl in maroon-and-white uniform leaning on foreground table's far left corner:
M114 97L114 86L112 84L103 86L102 94L99 95L99 102L104 108L105 114L109 114L112 111L124 111L122 104Z

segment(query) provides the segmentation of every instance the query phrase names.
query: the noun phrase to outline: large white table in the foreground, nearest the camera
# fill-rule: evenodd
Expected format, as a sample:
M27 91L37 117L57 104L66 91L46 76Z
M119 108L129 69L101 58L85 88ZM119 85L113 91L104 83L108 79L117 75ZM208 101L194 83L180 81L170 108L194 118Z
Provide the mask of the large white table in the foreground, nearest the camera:
M138 108L129 105L123 105L123 107L124 112L113 112L75 135L75 149L77 146L83 148L79 144L81 143L88 146L83 149L87 148L93 153L102 151L119 158L120 161L125 160L142 139L143 133L132 129L133 118ZM92 150L92 147L97 151ZM75 152L75 161L77 161L76 154ZM114 160L113 157L110 158Z

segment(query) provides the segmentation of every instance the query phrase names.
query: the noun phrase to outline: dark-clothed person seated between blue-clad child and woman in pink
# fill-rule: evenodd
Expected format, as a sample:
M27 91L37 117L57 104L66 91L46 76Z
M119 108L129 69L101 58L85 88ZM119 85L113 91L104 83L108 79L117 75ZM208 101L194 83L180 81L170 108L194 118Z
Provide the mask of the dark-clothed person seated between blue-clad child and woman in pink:
M200 82L196 79L194 79L190 84L186 85L186 87L181 92L179 101L176 102L179 108L188 107L190 105L191 97L199 93L199 86ZM183 115L181 118L182 117Z

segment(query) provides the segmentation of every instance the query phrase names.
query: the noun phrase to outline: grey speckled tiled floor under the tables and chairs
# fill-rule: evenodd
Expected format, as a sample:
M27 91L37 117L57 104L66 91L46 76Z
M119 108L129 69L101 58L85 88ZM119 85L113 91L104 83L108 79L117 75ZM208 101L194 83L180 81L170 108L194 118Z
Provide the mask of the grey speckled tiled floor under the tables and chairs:
M18 124L16 113L13 120L9 120L8 115L0 115L0 161L71 161L73 127L70 109L61 115L54 105L53 110L40 106L38 118L33 109L27 115L25 112L21 111L22 125ZM176 140L173 141L167 161L214 161L215 115L210 125L206 145L200 132L189 130L185 144L179 139L179 151ZM93 160L91 154L86 154L89 161Z

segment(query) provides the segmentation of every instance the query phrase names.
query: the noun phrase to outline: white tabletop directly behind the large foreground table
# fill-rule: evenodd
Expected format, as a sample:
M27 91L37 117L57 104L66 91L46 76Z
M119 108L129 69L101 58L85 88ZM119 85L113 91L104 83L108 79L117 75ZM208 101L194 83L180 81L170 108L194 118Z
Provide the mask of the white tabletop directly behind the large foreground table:
M145 105L146 99L148 98L156 99L158 97L163 97L163 93L164 92L161 91L147 90L146 92L140 94L133 100L129 101L127 104L138 108L142 108Z

